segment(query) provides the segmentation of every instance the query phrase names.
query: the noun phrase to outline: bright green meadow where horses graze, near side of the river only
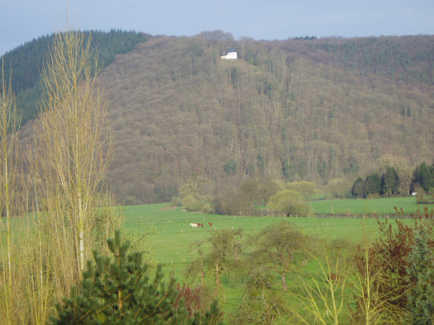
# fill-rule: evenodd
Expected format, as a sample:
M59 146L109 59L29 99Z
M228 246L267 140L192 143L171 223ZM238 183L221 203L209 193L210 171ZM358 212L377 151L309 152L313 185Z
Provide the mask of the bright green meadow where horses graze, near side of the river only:
M186 212L181 208L161 210L164 206L166 205L129 206L125 211L125 230L145 231L145 229L154 227L157 233L150 235L150 248L160 263L170 267L187 265L190 258L188 244L193 240L208 237L210 228L208 222L213 224L213 229L242 227L245 233L249 234L286 219L296 224L308 235L322 234L331 238L349 237L357 240L362 238L361 223L365 221L371 233L377 234L377 221L372 218L249 218ZM204 228L193 229L190 223L196 222L203 223ZM178 267L175 267L175 270L179 270Z

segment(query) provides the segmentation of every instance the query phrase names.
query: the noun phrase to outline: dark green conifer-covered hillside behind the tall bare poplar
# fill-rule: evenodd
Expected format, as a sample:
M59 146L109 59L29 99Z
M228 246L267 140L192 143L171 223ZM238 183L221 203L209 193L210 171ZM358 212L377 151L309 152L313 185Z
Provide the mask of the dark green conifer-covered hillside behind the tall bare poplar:
M135 31L112 29L110 32L85 31L86 39L91 38L91 49L98 53L99 64L107 66L115 60L115 55L127 53L146 37ZM3 55L5 75L10 75L12 67L12 89L21 111L22 123L32 119L37 112L36 102L41 98L40 68L53 44L54 33L33 39ZM1 66L1 61L0 61Z

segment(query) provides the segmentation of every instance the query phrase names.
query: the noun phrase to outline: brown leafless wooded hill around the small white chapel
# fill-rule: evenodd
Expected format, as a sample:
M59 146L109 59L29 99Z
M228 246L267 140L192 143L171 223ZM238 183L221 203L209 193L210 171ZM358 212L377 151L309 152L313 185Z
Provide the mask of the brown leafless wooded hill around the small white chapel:
M230 46L237 60L221 60ZM154 37L100 78L125 203L170 200L192 175L208 191L247 177L353 182L433 159L434 36L235 41Z

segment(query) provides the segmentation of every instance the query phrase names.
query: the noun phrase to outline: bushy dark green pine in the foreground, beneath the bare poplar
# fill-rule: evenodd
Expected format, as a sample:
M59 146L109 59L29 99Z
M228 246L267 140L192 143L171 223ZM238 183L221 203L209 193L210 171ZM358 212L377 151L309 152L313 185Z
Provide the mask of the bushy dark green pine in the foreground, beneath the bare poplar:
M73 287L71 295L56 304L52 324L204 324L204 320L212 319L211 314L216 320L220 318L216 303L207 312L210 315L189 318L183 301L177 302L175 279L164 283L161 265L150 279L142 254L128 253L130 242L121 241L120 231L107 244L113 258L94 250L94 260L88 261L79 287Z

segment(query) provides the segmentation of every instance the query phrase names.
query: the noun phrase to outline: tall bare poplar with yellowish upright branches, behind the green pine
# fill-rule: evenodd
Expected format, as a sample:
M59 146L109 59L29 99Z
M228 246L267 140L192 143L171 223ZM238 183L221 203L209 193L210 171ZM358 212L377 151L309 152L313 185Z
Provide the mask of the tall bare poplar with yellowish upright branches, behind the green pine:
M112 152L107 106L96 78L98 58L92 57L90 42L69 23L56 35L41 72L42 113L35 122L39 158L34 166L45 193L44 210L64 235L70 232L77 274L85 268Z

